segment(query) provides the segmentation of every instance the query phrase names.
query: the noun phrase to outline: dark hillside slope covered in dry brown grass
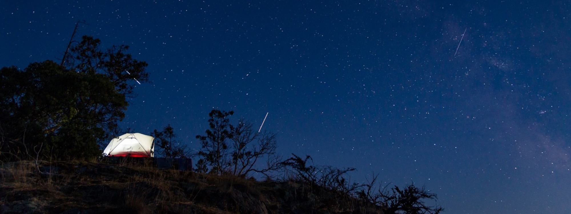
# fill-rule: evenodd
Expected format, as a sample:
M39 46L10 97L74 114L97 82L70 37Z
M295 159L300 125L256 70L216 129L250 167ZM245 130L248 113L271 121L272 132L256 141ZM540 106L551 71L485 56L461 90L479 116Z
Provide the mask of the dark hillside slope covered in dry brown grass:
M31 161L2 164L0 213L381 213L297 181L87 161L39 169Z

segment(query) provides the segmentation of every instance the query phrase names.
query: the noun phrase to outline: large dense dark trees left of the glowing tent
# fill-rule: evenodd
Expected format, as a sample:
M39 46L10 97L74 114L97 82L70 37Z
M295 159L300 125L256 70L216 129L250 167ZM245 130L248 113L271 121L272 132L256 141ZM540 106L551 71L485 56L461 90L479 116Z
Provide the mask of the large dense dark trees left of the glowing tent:
M98 142L124 118L134 78L148 79L147 63L125 54L128 46L101 50L99 39L87 36L74 44L65 66L46 60L0 69L2 154L26 158L43 143L54 158L100 155Z

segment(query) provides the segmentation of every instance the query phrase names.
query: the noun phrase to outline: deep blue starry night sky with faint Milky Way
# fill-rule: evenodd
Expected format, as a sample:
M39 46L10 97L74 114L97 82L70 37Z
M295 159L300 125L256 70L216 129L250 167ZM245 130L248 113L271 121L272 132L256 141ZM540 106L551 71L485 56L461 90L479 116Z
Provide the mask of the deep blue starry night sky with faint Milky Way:
M269 112L280 154L446 213L571 213L571 6L467 2L2 1L0 66L61 60L85 20L149 64L122 128L196 149L213 108Z

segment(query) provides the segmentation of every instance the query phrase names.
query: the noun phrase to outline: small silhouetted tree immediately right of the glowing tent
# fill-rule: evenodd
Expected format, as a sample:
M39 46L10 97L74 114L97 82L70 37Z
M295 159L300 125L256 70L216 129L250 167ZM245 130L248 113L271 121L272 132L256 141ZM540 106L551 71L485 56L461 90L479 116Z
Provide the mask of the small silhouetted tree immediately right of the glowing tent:
M154 130L151 134L155 137L156 146L159 146L159 154L166 158L186 158L186 146L176 140L176 134L170 124L163 131Z

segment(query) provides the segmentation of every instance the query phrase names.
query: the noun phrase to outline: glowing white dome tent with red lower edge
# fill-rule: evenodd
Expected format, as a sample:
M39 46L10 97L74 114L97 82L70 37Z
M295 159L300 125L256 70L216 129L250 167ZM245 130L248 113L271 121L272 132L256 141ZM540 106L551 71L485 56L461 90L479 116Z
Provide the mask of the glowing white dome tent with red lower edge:
M106 156L154 157L155 138L140 133L127 133L109 142L103 154Z

